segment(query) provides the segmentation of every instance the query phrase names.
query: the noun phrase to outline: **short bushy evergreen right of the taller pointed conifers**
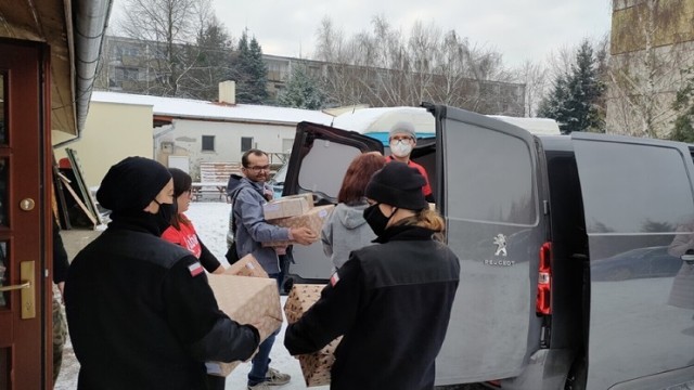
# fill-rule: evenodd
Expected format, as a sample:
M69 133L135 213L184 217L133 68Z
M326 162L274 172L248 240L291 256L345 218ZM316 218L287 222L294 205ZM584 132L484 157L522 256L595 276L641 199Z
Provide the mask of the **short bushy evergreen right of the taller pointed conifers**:
M321 109L325 104L325 93L320 82L308 74L307 67L296 64L278 103L286 107Z

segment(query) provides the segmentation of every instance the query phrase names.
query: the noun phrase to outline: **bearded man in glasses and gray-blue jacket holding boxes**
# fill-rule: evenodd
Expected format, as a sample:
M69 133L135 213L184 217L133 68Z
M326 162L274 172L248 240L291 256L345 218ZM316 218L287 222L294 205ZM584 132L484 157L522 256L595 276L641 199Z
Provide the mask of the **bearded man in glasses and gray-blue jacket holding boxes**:
M278 280L279 288L283 275L278 255L284 255L286 248L264 247L262 243L293 240L310 245L318 239L318 235L308 227L280 227L265 220L262 205L272 199L272 190L265 185L270 173L267 153L249 150L241 157L241 165L244 178L236 187L231 211L236 229L236 251L239 258L253 253L268 275ZM268 390L270 386L284 385L291 379L287 374L269 367L275 335L268 337L253 358L253 366L248 373L249 390Z

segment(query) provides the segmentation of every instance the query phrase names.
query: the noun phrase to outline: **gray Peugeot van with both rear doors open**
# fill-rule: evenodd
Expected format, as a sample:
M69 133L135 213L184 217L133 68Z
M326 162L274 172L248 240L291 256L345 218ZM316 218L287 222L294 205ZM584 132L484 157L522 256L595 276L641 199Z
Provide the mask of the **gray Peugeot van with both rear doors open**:
M694 237L692 147L532 135L462 109L425 107L436 138L417 141L413 159L427 169L461 261L437 385L694 385L694 256L671 250L678 237ZM347 165L367 151L383 144L299 123L284 195L310 191L319 204L334 203ZM294 246L294 260L295 282L330 277L320 243Z

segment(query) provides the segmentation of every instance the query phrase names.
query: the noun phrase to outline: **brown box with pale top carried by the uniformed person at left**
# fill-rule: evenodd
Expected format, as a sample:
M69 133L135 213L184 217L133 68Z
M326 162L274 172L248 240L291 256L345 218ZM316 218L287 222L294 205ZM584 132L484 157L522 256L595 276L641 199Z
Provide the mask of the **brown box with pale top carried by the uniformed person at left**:
M240 324L258 326L262 342L282 326L282 309L278 282L274 278L235 275L207 275L217 304ZM240 362L208 362L219 376L228 376Z

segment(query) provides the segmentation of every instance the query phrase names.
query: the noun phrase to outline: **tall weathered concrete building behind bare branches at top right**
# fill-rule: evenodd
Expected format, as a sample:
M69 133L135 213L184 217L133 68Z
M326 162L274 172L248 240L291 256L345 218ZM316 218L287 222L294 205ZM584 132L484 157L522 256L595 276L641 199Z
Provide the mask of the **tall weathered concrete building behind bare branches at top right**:
M683 82L680 70L694 61L684 2L640 0L629 8L613 6L608 131L665 138L676 115L674 91Z

